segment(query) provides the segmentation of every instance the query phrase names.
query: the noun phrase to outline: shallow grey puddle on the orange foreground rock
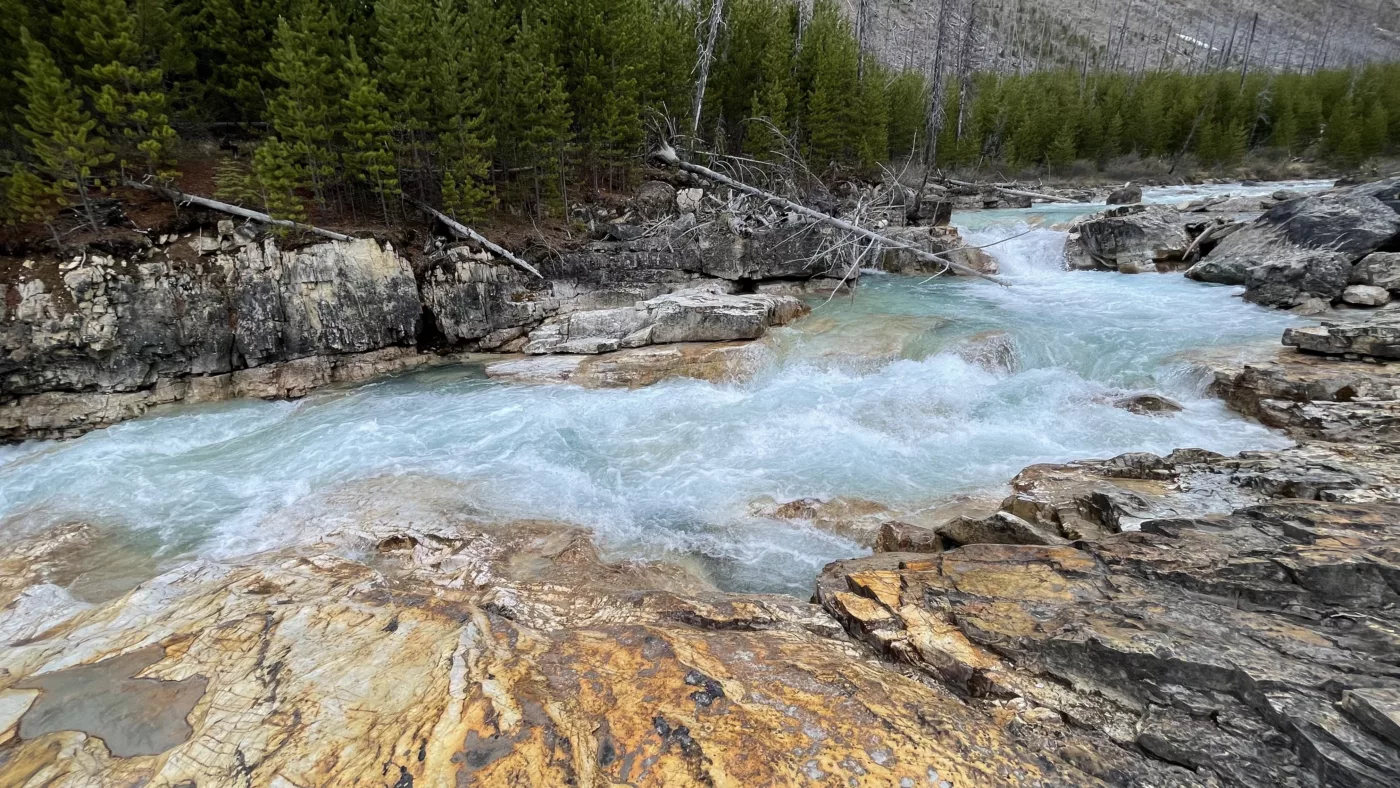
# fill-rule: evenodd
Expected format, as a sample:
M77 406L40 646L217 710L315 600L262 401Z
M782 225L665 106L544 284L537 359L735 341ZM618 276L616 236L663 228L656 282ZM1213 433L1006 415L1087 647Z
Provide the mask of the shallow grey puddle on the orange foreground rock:
M20 738L80 731L102 739L113 757L155 756L188 742L195 731L186 717L204 696L207 680L134 677L164 655L164 648L151 645L17 683L39 690L20 718Z

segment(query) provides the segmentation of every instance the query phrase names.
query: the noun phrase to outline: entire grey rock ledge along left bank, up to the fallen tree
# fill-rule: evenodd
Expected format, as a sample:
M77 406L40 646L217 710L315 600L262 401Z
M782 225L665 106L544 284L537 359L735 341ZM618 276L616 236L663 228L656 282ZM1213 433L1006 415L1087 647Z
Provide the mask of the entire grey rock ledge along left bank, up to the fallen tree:
M0 441L74 437L174 402L304 396L437 358L420 347L518 350L552 318L631 311L706 283L711 297L658 302L643 321L648 336L619 347L753 339L801 304L717 300L830 273L826 232L808 224L595 242L542 259L545 280L465 246L416 272L374 239L291 248L228 221L161 241L7 266Z

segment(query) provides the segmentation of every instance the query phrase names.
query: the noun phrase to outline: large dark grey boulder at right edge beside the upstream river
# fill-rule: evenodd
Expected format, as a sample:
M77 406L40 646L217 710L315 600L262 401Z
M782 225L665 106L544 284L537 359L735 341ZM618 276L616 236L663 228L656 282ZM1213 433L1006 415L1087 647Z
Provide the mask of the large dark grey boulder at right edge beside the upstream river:
M1333 189L1282 202L1224 239L1186 276L1243 284L1245 298L1268 307L1319 307L1348 284L1387 287L1389 260L1357 269L1400 242L1400 179Z

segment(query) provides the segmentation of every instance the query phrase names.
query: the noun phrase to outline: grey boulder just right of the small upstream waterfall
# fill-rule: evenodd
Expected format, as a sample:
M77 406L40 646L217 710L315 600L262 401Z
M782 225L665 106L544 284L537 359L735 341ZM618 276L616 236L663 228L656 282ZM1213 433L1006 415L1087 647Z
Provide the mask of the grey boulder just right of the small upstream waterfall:
M1120 206L1075 221L1065 242L1065 260L1078 270L1172 270L1190 245L1186 223L1173 209Z

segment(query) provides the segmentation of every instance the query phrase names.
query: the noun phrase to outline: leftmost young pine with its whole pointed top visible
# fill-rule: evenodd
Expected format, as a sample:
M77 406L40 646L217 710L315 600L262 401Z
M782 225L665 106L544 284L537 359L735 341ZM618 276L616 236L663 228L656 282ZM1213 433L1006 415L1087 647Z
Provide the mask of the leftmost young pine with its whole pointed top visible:
M53 56L20 29L25 60L20 70L20 94L24 98L21 134L29 141L36 169L48 176L66 203L76 193L92 230L98 230L91 190L101 188L94 169L112 161L106 143L97 134L97 120L83 111L78 91L63 77Z

